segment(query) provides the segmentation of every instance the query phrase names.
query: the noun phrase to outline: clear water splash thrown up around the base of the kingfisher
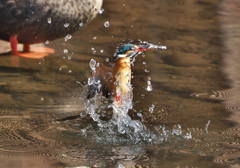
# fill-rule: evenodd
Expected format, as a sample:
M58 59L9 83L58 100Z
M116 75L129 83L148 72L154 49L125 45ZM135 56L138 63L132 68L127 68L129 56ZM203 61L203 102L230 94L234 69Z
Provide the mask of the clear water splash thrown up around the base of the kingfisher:
M98 63L91 59L89 63L93 73L96 72ZM88 78L86 88L90 85L95 85L101 88L101 83L93 77ZM131 87L131 86L129 86ZM174 125L172 129L165 126L158 126L153 129L148 129L140 120L133 120L129 115L129 110L132 109L132 94L127 95L121 105L113 102L112 104L104 104L100 96L95 96L91 99L86 99L84 103L85 112L89 114L93 121L98 126L98 131L90 131L85 128L83 136L94 136L94 139L100 143L106 144L139 144L148 143L156 144L168 141L172 136L181 136L184 139L191 139L191 133L182 133L181 125ZM153 112L155 105L149 108L149 112ZM103 119L104 112L110 112L110 118ZM91 127L92 128L92 127ZM94 133L93 133L94 132Z

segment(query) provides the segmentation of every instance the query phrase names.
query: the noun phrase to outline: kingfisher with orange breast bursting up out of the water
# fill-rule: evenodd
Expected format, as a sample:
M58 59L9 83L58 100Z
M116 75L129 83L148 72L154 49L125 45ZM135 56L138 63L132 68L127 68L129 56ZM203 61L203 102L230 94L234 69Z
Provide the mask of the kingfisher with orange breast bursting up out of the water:
M91 99L102 92L104 97L111 98L117 106L122 106L124 103L131 101L131 58L153 48L160 47L152 44L123 44L118 47L114 54L112 67L106 67L102 63L96 65L93 77L90 78L93 82L89 83L87 99Z

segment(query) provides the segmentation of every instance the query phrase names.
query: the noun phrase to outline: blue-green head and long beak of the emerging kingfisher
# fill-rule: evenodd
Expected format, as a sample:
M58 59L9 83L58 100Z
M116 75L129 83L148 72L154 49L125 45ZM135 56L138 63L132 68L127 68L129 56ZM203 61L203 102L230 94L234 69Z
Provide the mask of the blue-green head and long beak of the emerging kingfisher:
M135 44L123 44L116 49L116 53L114 54L114 60L118 60L120 58L125 57L133 57L141 51L145 51L151 49L151 45L135 45Z

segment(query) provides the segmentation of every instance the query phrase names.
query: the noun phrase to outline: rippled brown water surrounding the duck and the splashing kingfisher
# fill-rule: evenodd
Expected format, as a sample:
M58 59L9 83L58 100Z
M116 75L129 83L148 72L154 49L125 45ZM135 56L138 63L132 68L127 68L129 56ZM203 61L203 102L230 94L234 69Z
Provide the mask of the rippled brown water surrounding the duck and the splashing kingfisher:
M221 5L217 0L105 0L103 14L72 39L47 45L55 54L19 58L18 66L1 55L0 167L240 167L237 5L237 0ZM109 140L88 115L80 117L85 112L80 83L91 75L89 60L104 62L128 39L168 47L137 57L129 115L152 131L180 124L182 135L191 132L192 139L117 143L121 136ZM145 89L149 77L151 92Z

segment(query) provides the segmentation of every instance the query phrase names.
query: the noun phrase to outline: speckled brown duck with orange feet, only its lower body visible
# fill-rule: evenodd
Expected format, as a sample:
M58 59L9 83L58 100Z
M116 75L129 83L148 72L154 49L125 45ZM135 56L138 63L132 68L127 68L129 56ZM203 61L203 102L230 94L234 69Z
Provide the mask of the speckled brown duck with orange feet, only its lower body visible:
M77 31L96 17L101 6L102 0L0 0L0 39L10 41L12 55L46 56L31 55L30 44ZM25 53L18 52L18 43Z

